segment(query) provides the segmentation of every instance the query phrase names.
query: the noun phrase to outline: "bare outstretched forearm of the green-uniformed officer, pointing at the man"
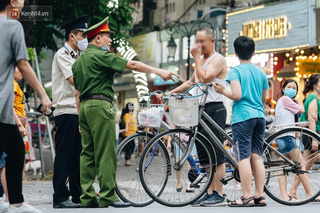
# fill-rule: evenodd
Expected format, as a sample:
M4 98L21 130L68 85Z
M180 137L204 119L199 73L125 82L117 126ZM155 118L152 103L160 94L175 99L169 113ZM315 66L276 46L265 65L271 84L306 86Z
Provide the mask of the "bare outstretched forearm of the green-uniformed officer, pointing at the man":
M172 75L179 77L177 74L146 65L140 61L128 61L126 68L141 73L156 74L166 81L172 79Z

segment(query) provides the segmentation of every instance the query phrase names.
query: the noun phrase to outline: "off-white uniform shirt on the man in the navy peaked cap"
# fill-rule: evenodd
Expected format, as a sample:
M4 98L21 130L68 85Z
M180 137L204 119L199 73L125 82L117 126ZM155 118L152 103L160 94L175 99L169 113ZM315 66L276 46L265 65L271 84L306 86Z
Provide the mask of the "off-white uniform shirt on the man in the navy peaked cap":
M71 46L64 43L65 47L60 48L52 61L52 106L55 107L53 116L62 114L78 115L75 87L69 83L67 78L73 76L72 64L76 61L78 53ZM71 53L75 55L72 58Z

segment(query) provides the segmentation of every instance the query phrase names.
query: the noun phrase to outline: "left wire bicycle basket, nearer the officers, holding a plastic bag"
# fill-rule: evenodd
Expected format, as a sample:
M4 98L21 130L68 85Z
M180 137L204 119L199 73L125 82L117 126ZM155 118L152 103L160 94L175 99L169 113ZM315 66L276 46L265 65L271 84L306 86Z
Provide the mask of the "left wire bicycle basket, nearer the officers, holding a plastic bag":
M129 124L138 127L160 128L164 107L159 104L129 104Z

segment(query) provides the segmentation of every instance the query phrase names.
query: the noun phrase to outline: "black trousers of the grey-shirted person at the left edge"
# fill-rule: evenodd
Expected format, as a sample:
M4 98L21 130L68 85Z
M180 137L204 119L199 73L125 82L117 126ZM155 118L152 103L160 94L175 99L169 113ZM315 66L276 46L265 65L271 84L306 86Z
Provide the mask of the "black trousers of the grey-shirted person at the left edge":
M22 203L22 170L24 165L24 144L16 125L0 122L0 155L7 153L6 179L10 204Z

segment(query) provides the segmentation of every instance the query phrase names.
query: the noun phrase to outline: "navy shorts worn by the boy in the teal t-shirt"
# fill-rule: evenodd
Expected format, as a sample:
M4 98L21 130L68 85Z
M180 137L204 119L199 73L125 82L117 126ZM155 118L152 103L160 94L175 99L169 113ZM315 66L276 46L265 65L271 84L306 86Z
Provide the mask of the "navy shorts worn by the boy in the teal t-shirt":
M266 120L252 118L232 124L234 154L237 161L247 159L254 152L262 157Z

